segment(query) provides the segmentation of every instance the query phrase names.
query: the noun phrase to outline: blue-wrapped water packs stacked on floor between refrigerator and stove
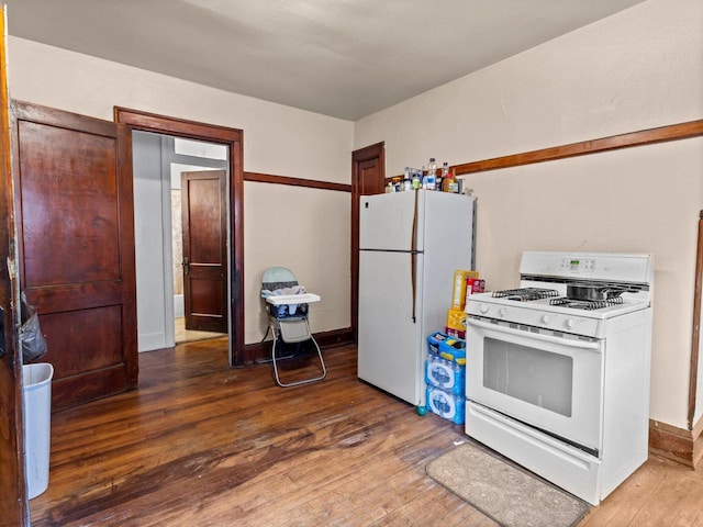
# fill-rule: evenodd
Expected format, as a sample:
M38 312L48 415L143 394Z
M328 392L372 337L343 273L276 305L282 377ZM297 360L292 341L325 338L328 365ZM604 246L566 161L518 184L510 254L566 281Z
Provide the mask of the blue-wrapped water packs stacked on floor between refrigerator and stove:
M426 406L457 425L465 421L466 343L444 333L427 337Z

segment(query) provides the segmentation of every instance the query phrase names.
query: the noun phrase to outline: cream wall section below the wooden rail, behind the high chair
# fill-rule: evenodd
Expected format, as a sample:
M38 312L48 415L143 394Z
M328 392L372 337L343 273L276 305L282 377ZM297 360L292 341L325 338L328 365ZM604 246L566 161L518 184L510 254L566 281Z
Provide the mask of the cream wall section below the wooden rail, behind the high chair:
M244 187L248 200L266 203L244 210L244 254L256 250L260 262L256 269L246 267L244 288L247 305L261 306L257 328L266 330L260 298L264 270L279 266L293 271L306 291L322 296L321 302L310 304L313 333L349 327L349 194L299 187L271 192L270 184L256 182L245 182ZM339 211L343 217L328 221ZM249 323L247 330L253 327ZM256 332L247 335L260 339Z

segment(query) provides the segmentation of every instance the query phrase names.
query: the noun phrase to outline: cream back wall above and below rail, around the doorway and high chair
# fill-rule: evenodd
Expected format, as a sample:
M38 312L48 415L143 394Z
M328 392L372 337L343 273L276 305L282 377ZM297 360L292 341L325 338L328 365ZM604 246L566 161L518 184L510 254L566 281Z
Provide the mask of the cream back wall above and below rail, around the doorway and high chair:
M13 99L108 121L113 119L113 106L119 105L241 128L247 171L350 182L354 124L349 121L16 37L9 38L8 75ZM306 214L316 218L314 223L291 223L290 212L281 223L281 214L269 210L271 202L286 200L291 193ZM322 296L316 306L321 315L310 317L314 332L348 327L349 194L245 183L244 213L245 341L260 340L266 329L258 289L261 273L270 265L290 266L301 283ZM291 235L292 239L305 239L309 251L304 257L300 246L286 243ZM346 288L341 287L341 277L347 281ZM304 283L305 279L312 284Z

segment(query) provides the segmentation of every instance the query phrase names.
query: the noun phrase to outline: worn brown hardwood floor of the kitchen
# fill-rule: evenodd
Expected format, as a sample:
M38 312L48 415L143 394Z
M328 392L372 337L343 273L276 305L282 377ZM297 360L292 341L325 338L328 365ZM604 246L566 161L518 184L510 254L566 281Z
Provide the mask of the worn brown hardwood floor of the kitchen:
M138 390L53 415L32 525L496 525L425 474L460 426L359 382L353 347L325 361L281 389L230 369L226 339L142 354ZM701 496L701 471L651 457L580 526L703 525Z

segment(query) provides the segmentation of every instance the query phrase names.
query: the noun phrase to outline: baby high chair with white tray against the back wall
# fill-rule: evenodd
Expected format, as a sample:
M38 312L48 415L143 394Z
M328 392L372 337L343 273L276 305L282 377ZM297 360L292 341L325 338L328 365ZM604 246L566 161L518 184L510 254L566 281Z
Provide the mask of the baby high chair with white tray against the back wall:
M308 322L308 304L319 302L320 296L313 293L305 293L304 288L298 284L295 274L289 269L271 267L264 272L261 278L261 298L266 301L268 313L267 333L270 330L274 336L271 362L274 363L274 374L278 385L284 388L297 386L323 380L327 374L327 370L320 346L317 346L310 333L310 324ZM314 346L317 351L321 374L291 382L281 381L278 362L283 359L297 358L305 344ZM283 349L287 350L286 355L281 355Z

